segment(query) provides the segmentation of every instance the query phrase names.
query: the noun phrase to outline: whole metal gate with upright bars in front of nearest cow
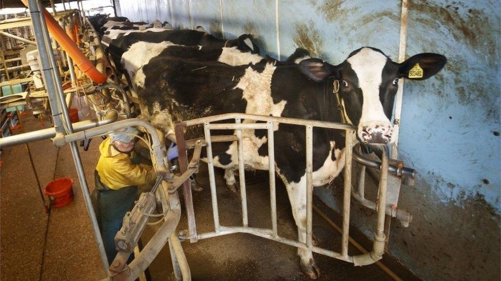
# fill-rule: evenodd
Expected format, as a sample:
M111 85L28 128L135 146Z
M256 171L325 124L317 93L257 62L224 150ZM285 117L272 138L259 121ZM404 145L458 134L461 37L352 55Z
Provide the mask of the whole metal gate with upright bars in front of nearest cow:
M221 123L220 121L233 120L234 123ZM242 120L252 120L252 123L243 123ZM218 123L214 123L219 121ZM259 123L258 123L259 122ZM275 153L274 153L274 125L276 124L291 124L303 126L305 128L304 134L306 139L306 241L299 242L296 240L287 239L281 237L277 233L277 207L276 207L276 193L275 193ZM186 127L203 125L204 135L203 139L196 140L185 140L184 129ZM377 225L375 232L375 240L373 244L373 250L366 254L350 256L348 254L348 243L349 243L349 228L350 228L350 203L351 203L351 193L352 193L352 149L345 149L345 168L344 168L344 189L343 189L343 207L342 207L342 240L341 240L341 251L336 252L332 250L327 250L324 248L316 247L312 245L312 207L313 207L313 128L326 128L326 129L337 129L344 131L345 135L345 147L349 148L353 146L353 138L355 133L355 128L349 124L343 123L332 123L324 121L313 121L313 120L302 120L295 118L284 118L284 117L273 117L273 116L260 116L260 115L249 115L249 114L222 114L211 117L204 117L193 119L189 121L176 122L175 133L179 151L179 164L181 173L185 172L189 167L187 162L186 150L193 148L196 142L205 142L208 158L208 174L210 183L210 194L213 207L214 216L214 228L213 232L198 233L195 221L195 211L191 196L191 188L189 181L184 183L184 200L186 204L187 219L188 219L188 235L181 237L183 239L189 239L190 242L197 242L200 239L206 239L210 237L226 235L231 233L249 233L264 237L269 240L277 241L287 245L291 245L297 248L303 248L311 250L313 252L331 256L337 258L338 260L354 263L357 266L369 265L382 258L382 253L384 252L384 222L387 198L387 181L389 174L389 151L388 147L385 146L382 153L382 163L380 164L380 181L379 181L379 191L378 200L376 202L377 211ZM211 130L235 130L235 135L230 136L211 136ZM247 218L247 199L246 199L246 189L245 189L245 173L244 173L244 163L243 161L238 162L238 172L240 181L240 197L242 204L242 225L241 226L223 226L219 223L219 211L218 211L218 201L216 195L216 180L214 175L214 164L213 164L213 152L212 145L213 142L237 142L238 144L238 159L243 159L243 142L242 142L242 130L244 129L264 129L267 131L267 145L268 145L268 165L269 165L269 191L270 191L270 205L271 205L271 219L272 228L256 228L248 225ZM357 159L357 158L355 158ZM406 171L409 172L410 169ZM402 167L393 167L392 172L395 174L402 174ZM412 170L411 170L412 171ZM412 171L413 172L413 171ZM367 199L365 199L367 200ZM387 211L388 212L388 211ZM391 214L391 210L390 210ZM396 217L396 215L395 215Z

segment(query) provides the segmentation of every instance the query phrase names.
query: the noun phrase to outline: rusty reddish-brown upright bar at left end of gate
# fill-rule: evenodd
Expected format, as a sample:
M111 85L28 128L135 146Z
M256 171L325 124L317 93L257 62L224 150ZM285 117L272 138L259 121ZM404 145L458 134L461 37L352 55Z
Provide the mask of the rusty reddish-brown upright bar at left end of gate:
M186 142L184 140L184 126L181 122L175 123L176 144L178 146L179 170L181 174L188 170L188 156L186 154ZM188 218L188 231L190 242L197 242L197 224L195 221L195 209L193 207L193 197L191 194L190 179L183 183L183 196L186 205L186 215Z

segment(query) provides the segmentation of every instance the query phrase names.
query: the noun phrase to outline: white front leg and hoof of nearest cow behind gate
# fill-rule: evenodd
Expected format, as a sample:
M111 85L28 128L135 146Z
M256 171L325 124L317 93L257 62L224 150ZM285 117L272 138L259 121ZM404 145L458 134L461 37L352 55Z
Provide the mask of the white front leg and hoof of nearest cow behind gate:
M301 178L299 183L286 183L287 194L291 201L292 213L298 227L298 241L306 243L306 179ZM320 276L320 269L315 263L311 250L298 248L301 260L301 270L312 279Z

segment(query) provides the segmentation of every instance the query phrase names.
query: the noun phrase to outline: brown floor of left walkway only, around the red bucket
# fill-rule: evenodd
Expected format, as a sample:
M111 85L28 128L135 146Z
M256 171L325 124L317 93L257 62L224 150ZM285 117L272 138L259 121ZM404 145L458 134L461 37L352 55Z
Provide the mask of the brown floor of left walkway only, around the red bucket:
M22 118L24 131L41 128L32 116ZM50 124L46 122L46 127ZM16 131L16 134L22 133ZM80 154L89 186L94 186L99 141ZM73 201L45 212L25 145L3 149L0 168L1 280L89 280L105 277L97 244L73 165L70 147L50 140L29 144L42 187L54 178L73 179Z

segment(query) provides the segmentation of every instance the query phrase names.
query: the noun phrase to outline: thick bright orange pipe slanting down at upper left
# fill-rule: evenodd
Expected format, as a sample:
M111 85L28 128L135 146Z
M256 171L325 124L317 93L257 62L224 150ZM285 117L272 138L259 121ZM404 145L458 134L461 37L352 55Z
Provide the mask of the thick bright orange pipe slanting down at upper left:
M26 7L28 7L28 0L21 0ZM78 46L76 46L75 41L73 41L66 32L57 24L57 21L52 17L52 15L47 12L45 8L42 8L45 17L45 23L47 24L47 29L54 39L61 45L61 48L68 53L68 55L73 59L73 62L80 68L82 72L89 77L95 83L102 84L106 82L106 75L99 72L92 62L85 57L85 55L80 51Z

